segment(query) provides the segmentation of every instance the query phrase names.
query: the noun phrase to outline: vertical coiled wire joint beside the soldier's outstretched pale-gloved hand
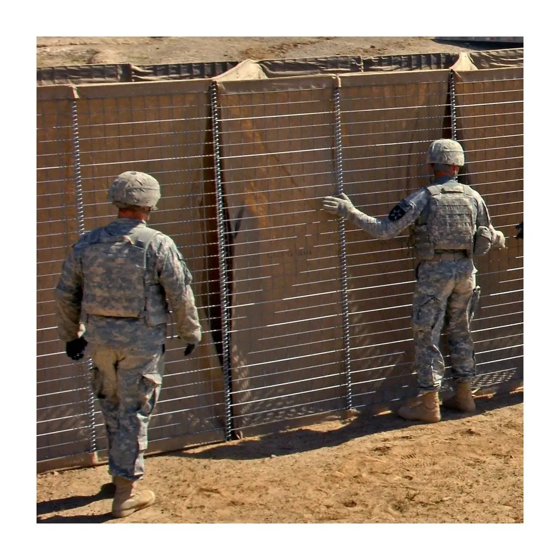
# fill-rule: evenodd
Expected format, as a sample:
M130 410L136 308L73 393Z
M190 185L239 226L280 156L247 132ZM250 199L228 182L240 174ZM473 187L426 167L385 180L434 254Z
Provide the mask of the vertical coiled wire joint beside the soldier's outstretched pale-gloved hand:
M342 125L340 123L340 87L335 86L334 98L334 158L337 194L344 192L342 175ZM352 373L350 368L350 323L348 319L348 270L346 267L346 225L338 218L340 236L340 284L342 291L342 337L344 350L344 375L346 376L346 408L352 408Z

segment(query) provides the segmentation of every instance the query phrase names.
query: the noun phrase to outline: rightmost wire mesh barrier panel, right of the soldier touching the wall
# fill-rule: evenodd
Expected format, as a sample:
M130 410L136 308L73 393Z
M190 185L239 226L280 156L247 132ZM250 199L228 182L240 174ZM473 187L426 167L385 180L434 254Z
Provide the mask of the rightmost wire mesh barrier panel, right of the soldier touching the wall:
M481 287L473 321L476 384L496 385L522 376L523 68L461 72L455 77L457 134L465 149L466 184L478 190L506 250L475 260Z

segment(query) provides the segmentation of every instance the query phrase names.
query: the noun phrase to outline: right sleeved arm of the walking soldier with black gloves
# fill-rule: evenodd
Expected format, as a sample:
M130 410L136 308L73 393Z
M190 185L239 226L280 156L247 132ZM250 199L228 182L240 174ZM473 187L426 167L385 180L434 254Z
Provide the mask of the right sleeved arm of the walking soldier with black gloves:
M157 272L161 286L169 300L181 340L196 346L202 338L198 310L190 283L193 277L183 255L170 237L157 249Z

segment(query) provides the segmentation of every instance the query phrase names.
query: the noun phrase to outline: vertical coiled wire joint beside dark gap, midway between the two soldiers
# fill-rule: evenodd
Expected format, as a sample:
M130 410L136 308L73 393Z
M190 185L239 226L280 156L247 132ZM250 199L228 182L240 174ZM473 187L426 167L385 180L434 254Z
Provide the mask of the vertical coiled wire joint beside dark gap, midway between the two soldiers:
M218 220L218 261L220 263L220 307L222 312L222 370L226 414L226 441L233 432L231 357L230 357L230 306L227 286L227 255L225 231L225 207L223 200L222 167L220 162L220 127L218 123L218 85L212 82L212 143L214 147L214 173L216 180L216 211Z

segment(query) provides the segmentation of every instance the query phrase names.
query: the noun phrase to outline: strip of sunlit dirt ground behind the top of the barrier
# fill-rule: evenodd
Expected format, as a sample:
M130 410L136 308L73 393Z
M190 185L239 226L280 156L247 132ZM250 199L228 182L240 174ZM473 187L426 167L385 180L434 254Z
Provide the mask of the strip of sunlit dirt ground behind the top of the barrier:
M512 45L433 37L38 37L37 66L164 64L335 55L456 53Z

